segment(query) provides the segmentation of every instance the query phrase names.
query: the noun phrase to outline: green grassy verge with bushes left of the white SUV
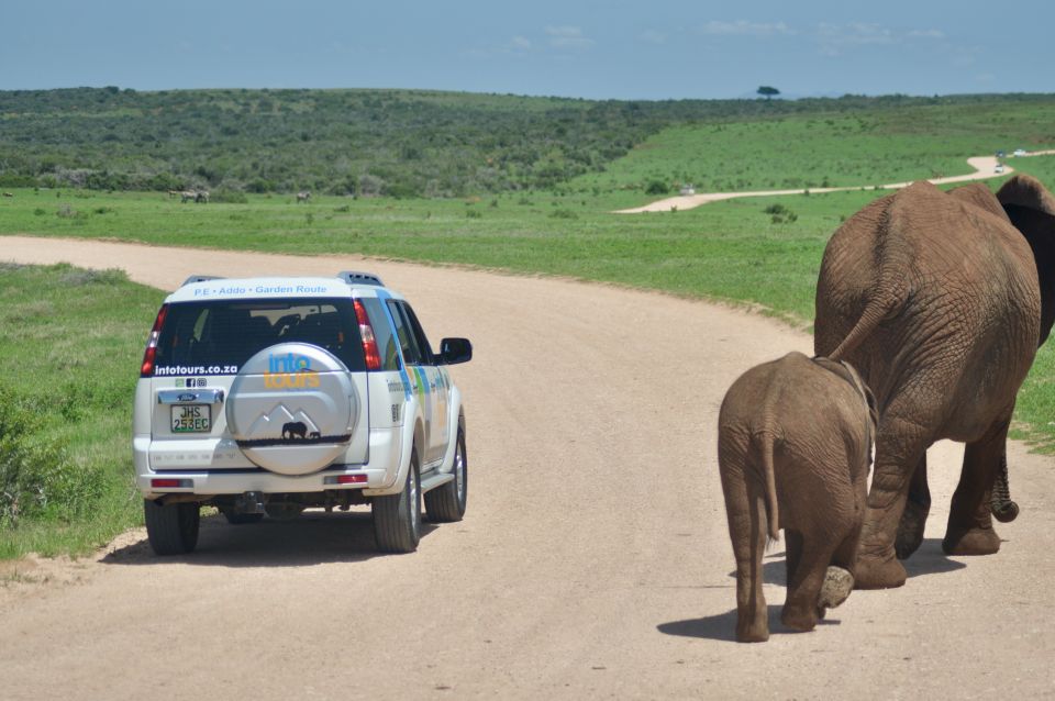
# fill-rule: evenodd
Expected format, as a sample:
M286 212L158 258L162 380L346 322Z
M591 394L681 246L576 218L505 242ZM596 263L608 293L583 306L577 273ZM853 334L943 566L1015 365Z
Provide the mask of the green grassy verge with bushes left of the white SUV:
M0 558L81 554L142 521L129 434L160 292L0 264Z

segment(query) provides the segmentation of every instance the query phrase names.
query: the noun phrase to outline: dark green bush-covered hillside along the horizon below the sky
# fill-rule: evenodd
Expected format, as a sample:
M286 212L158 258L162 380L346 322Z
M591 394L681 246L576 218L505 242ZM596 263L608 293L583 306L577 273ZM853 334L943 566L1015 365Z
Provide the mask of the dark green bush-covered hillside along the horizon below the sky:
M680 175L706 175L680 166L603 174L635 146L663 144L670 129L707 136L733 124L832 118L843 130L858 116L898 123L892 115L915 129L903 115L930 109L955 115L934 129L988 133L1008 110L1053 107L1052 96L626 102L406 90L0 91L0 186L393 197L553 189L575 178L590 189L643 188L648 178L669 187ZM1022 143L1055 141L1051 119L1024 121L1013 134ZM676 138L660 159L677 165L707 152L689 141L692 148Z

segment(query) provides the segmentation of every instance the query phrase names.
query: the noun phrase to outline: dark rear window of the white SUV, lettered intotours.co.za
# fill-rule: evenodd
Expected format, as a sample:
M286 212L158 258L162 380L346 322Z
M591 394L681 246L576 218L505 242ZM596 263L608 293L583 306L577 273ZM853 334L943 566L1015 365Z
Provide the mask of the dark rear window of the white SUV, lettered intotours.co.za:
M277 343L310 343L365 371L351 299L286 299L170 304L154 375L234 375Z

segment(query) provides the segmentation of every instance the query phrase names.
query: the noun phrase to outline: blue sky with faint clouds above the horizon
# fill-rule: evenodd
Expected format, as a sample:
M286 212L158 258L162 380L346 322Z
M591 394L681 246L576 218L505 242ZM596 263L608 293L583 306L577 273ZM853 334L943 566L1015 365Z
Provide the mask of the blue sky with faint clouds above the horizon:
M1055 92L1055 2L0 0L0 89Z

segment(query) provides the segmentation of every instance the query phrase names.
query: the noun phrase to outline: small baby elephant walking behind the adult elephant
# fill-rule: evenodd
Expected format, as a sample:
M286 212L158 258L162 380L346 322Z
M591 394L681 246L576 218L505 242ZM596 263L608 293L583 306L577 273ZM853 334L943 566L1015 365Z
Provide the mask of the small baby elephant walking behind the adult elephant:
M780 620L811 631L854 586L876 401L856 370L789 353L744 372L718 420L718 464L736 557L736 639L769 639L767 536L787 539Z

